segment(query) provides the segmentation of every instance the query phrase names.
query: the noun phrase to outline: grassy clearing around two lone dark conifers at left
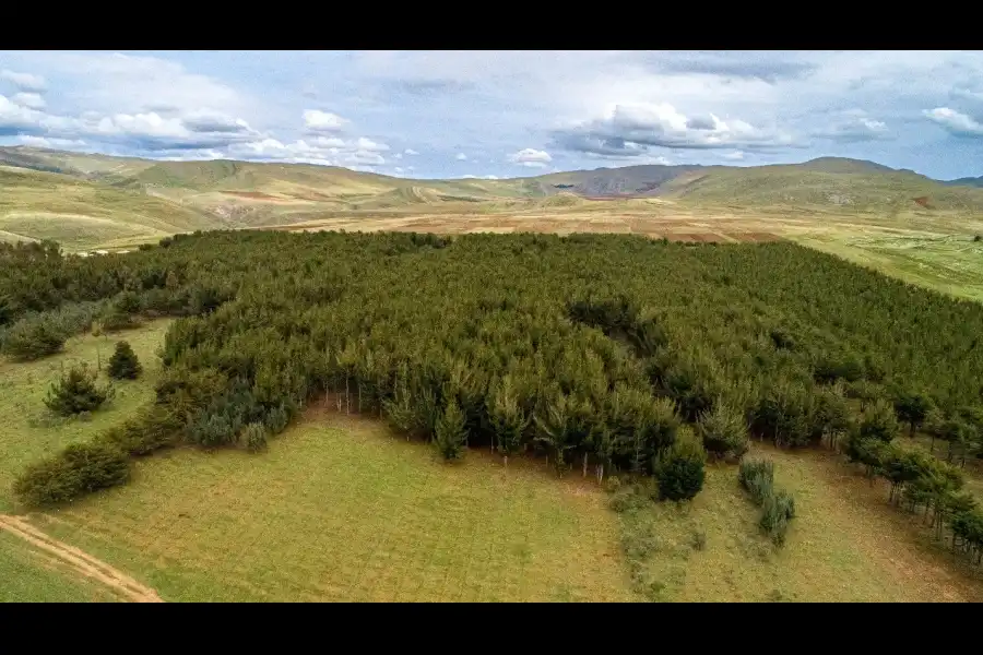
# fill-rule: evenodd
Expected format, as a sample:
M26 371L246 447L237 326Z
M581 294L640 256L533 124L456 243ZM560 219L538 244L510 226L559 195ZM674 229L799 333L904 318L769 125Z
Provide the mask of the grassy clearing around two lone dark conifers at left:
M66 344L63 353L39 361L14 364L0 360L0 414L4 417L0 424L0 512L14 511L10 488L24 466L125 420L133 409L153 397L157 371L154 352L166 326L167 321L154 321L108 337L96 338L91 334L73 337ZM105 366L112 355L112 346L121 340L130 342L143 362L144 377L115 383L116 397L93 413L88 421L52 416L44 405L44 397L62 367L85 362L95 368L100 355L104 367L100 378L105 379Z

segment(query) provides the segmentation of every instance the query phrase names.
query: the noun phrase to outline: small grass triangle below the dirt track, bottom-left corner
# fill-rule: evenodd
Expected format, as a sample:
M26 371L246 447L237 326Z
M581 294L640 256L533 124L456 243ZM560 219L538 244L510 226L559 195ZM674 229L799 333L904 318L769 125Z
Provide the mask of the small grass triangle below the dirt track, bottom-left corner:
M0 603L116 602L98 583L80 579L58 560L0 531Z

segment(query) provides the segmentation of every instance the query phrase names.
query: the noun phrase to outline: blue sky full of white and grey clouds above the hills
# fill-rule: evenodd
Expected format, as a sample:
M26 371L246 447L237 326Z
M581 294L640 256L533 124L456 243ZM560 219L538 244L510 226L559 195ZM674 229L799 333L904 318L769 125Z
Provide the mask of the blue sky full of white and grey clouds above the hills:
M0 51L0 145L509 178L871 159L983 176L983 51Z

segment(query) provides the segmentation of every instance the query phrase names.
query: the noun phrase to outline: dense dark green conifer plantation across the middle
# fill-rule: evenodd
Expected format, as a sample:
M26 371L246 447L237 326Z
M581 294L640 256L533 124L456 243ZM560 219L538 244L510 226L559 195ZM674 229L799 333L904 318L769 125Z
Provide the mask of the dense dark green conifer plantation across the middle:
M258 449L325 396L449 458L537 451L600 479L696 479L684 424L724 458L748 427L832 443L886 410L919 427L934 408L966 456L983 432L983 308L790 243L210 233L98 266L120 281L105 298L182 317L149 444Z

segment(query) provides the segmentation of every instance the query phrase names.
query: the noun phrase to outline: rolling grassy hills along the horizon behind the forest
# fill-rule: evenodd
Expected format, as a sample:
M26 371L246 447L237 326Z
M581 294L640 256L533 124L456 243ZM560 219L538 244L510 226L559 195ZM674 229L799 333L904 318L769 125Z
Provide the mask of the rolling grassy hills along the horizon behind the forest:
M650 199L639 205L631 199ZM592 201L609 200L608 203ZM867 216L905 229L983 214L983 189L873 162L627 166L505 180L404 179L308 164L157 162L0 147L0 239L56 238L70 250L125 248L196 229L292 226L426 214L629 211ZM620 204L619 204L620 203ZM625 204L628 203L628 204ZM664 212L663 212L664 213ZM445 221L445 223L446 223ZM439 221L438 221L439 223Z

